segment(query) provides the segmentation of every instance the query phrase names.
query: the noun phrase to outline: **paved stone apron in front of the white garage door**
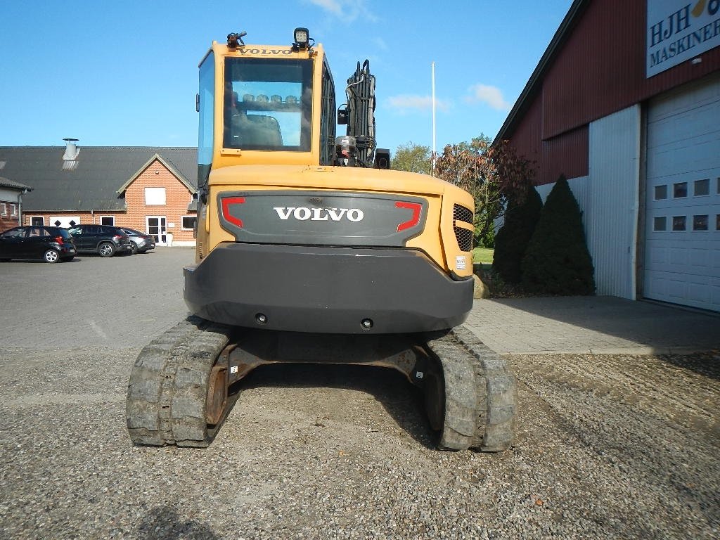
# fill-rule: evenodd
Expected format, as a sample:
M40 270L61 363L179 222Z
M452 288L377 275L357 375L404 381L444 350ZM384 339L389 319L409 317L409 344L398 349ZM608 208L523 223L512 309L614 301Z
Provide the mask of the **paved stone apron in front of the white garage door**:
M499 354L686 354L720 349L720 314L616 297L475 300L465 325Z

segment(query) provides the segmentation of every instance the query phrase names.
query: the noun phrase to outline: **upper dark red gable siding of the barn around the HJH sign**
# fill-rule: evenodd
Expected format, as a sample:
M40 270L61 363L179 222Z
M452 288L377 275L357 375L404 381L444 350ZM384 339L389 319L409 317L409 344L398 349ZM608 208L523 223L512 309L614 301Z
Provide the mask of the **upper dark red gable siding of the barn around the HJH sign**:
M697 65L685 62L646 78L646 9L646 0L590 2L542 82L543 138L720 69L715 48Z

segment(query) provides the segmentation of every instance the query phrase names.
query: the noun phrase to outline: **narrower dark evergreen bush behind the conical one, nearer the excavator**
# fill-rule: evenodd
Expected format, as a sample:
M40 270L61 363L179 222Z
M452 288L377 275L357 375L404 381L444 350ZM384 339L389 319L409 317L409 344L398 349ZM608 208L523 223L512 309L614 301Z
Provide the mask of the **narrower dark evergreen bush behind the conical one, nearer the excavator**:
M520 203L508 203L505 223L495 235L495 255L492 269L503 281L519 283L522 278L521 261L540 218L542 199L534 188Z

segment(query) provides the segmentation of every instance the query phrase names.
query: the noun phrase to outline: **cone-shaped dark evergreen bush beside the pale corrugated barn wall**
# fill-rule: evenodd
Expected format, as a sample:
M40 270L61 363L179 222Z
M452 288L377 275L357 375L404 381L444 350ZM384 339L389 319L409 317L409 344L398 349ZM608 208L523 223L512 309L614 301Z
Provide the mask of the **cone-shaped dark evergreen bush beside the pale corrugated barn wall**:
M593 272L582 213L561 175L523 257L523 287L542 294L594 294Z

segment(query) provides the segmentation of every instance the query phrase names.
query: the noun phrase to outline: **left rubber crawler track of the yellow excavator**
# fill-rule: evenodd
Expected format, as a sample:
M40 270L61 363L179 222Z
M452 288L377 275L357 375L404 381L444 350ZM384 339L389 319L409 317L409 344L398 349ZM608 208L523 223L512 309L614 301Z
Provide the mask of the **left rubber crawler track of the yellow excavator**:
M127 385L127 431L135 444L205 447L207 383L231 328L189 317L138 355Z

